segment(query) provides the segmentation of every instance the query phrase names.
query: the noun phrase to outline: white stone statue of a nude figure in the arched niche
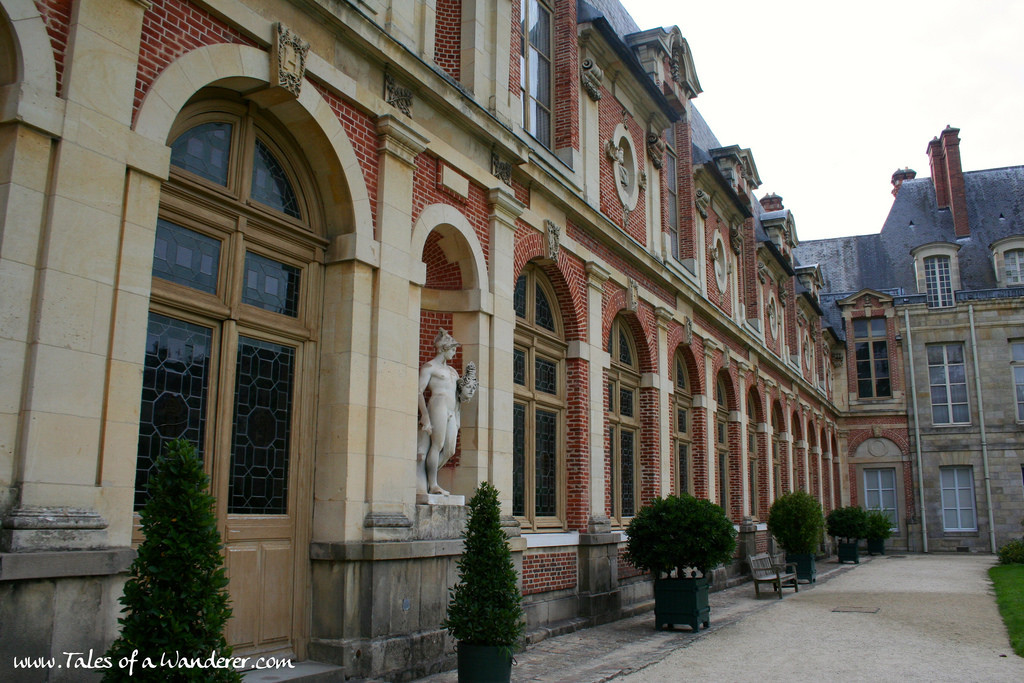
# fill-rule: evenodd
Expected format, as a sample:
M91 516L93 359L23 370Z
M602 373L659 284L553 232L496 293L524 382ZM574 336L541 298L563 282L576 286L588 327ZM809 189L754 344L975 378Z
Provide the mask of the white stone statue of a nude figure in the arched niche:
M437 485L437 470L455 454L455 445L462 425L462 403L470 400L479 382L476 364L469 362L461 378L447 361L455 356L459 342L445 330L438 330L434 337L437 350L420 369L420 432L416 447L417 494L447 496L449 492ZM423 392L430 389L430 402Z

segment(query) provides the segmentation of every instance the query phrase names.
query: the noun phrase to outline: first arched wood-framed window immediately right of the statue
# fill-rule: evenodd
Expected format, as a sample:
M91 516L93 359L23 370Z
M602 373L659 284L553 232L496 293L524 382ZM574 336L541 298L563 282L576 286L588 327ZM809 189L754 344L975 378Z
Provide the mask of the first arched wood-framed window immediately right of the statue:
M516 282L512 513L526 528L565 521L565 342L554 290L527 265Z

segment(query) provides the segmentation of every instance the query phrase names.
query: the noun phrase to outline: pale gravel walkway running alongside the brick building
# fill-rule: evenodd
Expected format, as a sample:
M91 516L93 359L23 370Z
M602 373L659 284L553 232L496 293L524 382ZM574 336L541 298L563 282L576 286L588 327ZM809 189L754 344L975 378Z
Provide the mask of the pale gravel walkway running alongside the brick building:
M664 632L646 612L544 640L513 681L1024 681L988 582L991 556L819 562L777 600L742 584L711 594L711 629ZM456 683L445 672L421 683Z

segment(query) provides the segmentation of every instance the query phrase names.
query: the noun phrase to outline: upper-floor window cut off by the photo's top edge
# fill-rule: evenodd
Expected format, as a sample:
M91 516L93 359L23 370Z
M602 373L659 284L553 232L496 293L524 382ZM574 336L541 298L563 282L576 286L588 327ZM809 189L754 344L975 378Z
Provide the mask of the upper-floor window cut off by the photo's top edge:
M541 0L520 3L522 42L519 51L519 88L522 124L546 147L551 146L552 26L551 9Z

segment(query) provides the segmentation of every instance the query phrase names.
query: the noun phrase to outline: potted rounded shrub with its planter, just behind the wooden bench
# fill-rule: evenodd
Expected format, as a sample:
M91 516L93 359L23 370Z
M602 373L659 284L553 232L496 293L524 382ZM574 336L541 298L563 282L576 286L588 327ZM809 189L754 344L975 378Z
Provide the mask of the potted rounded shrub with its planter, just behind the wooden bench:
M821 544L823 529L821 504L806 492L780 496L768 511L768 531L785 551L785 561L797 565L799 581L817 581L814 553Z

